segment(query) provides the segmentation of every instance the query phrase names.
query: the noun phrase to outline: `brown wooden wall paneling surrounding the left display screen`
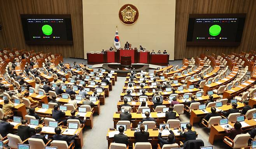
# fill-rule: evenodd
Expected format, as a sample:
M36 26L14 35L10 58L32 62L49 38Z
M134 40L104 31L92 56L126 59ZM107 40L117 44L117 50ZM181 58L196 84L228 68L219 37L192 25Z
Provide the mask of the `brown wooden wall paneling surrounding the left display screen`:
M73 45L26 45L20 14L70 14ZM63 57L84 58L82 0L0 0L0 48L61 53ZM49 49L47 49L49 48Z

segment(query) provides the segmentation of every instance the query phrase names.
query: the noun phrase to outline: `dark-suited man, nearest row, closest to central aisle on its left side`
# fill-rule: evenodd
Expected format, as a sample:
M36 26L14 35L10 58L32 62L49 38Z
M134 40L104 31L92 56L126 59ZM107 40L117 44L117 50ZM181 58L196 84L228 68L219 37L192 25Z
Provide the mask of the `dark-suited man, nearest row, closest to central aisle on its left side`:
M55 134L53 135L53 140L60 140L60 141L66 141L68 146L72 143L75 142L75 137L79 134L79 131L77 131L74 135L68 136L68 135L61 135L61 129L60 127L56 127L54 129Z

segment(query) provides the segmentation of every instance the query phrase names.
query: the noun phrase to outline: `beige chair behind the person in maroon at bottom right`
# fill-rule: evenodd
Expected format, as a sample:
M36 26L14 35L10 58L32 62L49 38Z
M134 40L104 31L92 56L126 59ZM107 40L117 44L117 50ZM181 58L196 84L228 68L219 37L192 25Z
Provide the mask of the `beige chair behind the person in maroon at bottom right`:
M223 142L228 144L228 146L232 147L233 149L240 149L241 147L248 146L249 138L250 135L248 133L236 135L234 140L225 136L223 138Z

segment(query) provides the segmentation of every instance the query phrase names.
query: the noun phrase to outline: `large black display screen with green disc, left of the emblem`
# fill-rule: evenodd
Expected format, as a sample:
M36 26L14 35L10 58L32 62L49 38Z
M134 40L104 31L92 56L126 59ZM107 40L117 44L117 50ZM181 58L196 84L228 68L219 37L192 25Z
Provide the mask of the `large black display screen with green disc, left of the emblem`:
M27 44L73 44L70 15L21 14Z

